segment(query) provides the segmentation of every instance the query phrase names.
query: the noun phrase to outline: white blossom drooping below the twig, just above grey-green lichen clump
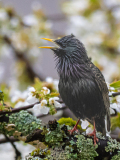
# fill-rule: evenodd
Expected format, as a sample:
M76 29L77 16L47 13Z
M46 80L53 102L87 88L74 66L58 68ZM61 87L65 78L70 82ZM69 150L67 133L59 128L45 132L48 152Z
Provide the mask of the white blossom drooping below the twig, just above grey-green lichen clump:
M40 113L42 113L42 114L48 114L49 108L46 107L46 105L47 105L47 101L44 99L41 101L40 104L35 104L33 109L39 110Z

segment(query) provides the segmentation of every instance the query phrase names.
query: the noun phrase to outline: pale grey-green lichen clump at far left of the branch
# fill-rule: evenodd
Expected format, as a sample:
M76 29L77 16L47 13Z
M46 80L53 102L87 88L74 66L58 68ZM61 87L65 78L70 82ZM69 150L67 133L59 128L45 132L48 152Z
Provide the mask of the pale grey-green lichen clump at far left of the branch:
M7 115L8 116L8 115ZM18 113L11 114L9 117L9 122L3 122L0 125L0 132L13 136L15 131L21 132L22 136L26 136L33 130L41 127L41 120L37 119L35 116L29 114L27 111L20 111ZM14 124L13 129L8 130L7 126L9 124Z

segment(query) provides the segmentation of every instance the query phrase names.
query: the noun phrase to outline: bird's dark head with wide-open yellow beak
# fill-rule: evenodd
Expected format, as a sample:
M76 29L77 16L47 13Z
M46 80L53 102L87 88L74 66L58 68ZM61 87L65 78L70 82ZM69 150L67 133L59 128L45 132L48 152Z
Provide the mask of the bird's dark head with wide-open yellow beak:
M84 45L73 35L68 35L62 37L60 39L48 39L42 38L47 41L51 41L56 44L55 47L53 46L43 46L39 48L48 48L54 51L55 55L58 58L87 58L86 50Z

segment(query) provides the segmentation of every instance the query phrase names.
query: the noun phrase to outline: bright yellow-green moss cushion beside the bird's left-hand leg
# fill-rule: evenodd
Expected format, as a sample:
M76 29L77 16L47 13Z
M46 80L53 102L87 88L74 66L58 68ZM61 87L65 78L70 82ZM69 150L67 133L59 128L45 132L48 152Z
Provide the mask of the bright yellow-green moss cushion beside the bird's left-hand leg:
M58 123L60 125L65 124L66 126L69 126L70 128L73 128L77 122L69 117L69 118L60 118L58 120ZM79 129L81 132L85 131L85 129L82 129L81 125L77 125L77 129Z

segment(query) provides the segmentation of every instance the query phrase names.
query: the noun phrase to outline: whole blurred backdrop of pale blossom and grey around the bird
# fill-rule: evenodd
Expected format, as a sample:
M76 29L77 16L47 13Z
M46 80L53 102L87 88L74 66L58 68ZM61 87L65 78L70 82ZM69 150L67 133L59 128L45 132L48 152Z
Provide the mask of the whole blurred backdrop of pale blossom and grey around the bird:
M51 45L41 38L71 33L84 43L107 82L120 79L120 0L1 0L1 89L11 88L12 96L26 90L35 77L58 79L52 51L38 47ZM5 145L0 145L0 159L14 159L12 147ZM24 148L23 156L30 148Z

